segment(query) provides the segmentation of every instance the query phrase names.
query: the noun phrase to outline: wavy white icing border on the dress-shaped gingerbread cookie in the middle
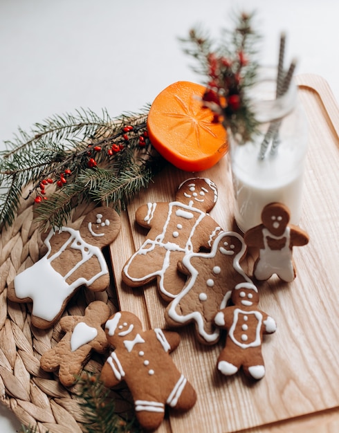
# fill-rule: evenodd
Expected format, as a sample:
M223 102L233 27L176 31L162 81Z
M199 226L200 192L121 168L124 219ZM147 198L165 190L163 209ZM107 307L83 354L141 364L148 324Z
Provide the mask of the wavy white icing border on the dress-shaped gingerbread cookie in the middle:
M234 251L232 251L232 255L234 255L234 257L232 257L233 268L235 269L235 272L239 273L242 277L244 277L244 279L246 281L246 282L241 283L241 284L243 284L244 287L246 287L247 284L250 285L251 287L255 287L253 285L252 281L250 280L250 278L246 275L246 273L244 272L244 270L241 268L241 266L239 264L241 257L244 256L244 252L246 251L246 244L244 243L243 238L237 232L220 232L218 234L218 236L216 237L216 239L214 240L214 243L212 245L212 249L209 253L191 252L189 254L186 254L185 257L183 257L183 266L185 266L185 268L187 268L191 277L190 277L189 281L187 282L187 286L185 286L185 288L183 288L183 291L181 291L181 293L179 293L174 298L174 300L172 300L172 302L170 303L170 308L167 311L169 317L171 317L171 319L174 320L175 322L178 322L181 324L185 324L185 323L192 322L192 321L196 322L199 335L201 335L201 337L204 340L206 340L206 342L209 342L209 343L215 342L219 338L220 330L215 329L211 333L208 333L208 331L206 331L206 329L205 329L205 320L204 320L203 316L201 315L201 313L199 313L199 311L192 311L192 312L187 313L185 315L181 315L181 314L178 314L176 310L177 310L177 307L180 304L181 300L183 299L183 297L185 297L185 295L187 295L187 293L194 286L194 284L196 282L196 278L199 275L199 270L197 270L196 268L194 268L194 266L192 266L191 259L193 257L204 257L206 259L208 259L210 257L215 257L215 255L217 254L217 250L219 248L219 243L221 243L223 238L226 236L234 236L234 237L237 237L237 239L239 239L239 241L241 241L241 250L237 253L237 255L234 255ZM230 299L230 293L231 293L231 291L226 292L226 294L223 297L223 300L221 302L220 308L225 308L226 303ZM217 324L217 322L216 322L216 324ZM218 326L220 326L220 325L218 325Z

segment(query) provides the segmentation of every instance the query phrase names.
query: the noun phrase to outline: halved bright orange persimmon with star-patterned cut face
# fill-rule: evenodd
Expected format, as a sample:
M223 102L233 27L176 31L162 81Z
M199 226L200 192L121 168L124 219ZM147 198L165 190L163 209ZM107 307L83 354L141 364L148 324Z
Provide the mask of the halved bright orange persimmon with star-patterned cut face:
M216 164L227 150L226 131L213 123L202 107L205 87L179 81L155 98L147 118L149 139L170 163L187 172L201 172Z

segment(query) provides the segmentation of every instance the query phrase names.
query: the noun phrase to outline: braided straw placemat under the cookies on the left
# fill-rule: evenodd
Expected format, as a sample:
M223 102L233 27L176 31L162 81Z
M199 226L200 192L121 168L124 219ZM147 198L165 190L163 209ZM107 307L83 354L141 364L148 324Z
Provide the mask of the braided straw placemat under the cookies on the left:
M92 209L93 205L78 206L73 210L67 225L79 228L84 216ZM79 388L77 385L71 388L62 386L57 372L46 373L39 365L42 353L55 346L64 336L59 324L47 330L37 329L30 322L32 304L17 304L7 299L10 282L18 273L35 263L44 249L42 234L33 222L33 212L34 203L23 201L15 223L1 231L1 403L14 412L22 424L36 426L37 432L82 432L86 418L79 406ZM118 310L113 278L109 288L100 293L81 288L68 302L64 315L83 315L84 309L93 300L109 304L112 313ZM84 370L99 373L106 356L93 353Z

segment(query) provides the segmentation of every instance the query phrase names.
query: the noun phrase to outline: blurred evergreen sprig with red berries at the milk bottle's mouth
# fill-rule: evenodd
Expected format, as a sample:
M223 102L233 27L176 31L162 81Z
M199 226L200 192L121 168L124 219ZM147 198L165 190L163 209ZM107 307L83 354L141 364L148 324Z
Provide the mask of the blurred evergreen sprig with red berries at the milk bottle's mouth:
M214 122L237 134L242 141L257 133L258 123L250 106L248 90L257 78L257 42L259 33L253 28L254 14L234 17L235 27L223 29L219 40L200 28L181 38L183 50L194 58L193 70L203 76L207 87L203 106L214 111Z

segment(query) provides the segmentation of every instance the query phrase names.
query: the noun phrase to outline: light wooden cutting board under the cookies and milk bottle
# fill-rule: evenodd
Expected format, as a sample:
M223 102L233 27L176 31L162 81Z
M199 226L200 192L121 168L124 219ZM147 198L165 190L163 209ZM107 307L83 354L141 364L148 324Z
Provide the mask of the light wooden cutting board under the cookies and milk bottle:
M195 387L190 412L170 412L158 432L227 433L339 431L339 109L322 77L297 77L309 120L303 212L300 226L309 245L293 250L297 278L291 284L271 279L259 286L260 308L275 318L277 331L264 338L266 376L253 383L244 374L226 378L216 368L222 343L205 347L192 326L178 328L181 344L174 362ZM154 284L131 289L121 281L125 262L145 240L134 221L149 201L173 201L186 178L208 177L219 198L210 212L233 230L233 196L228 157L205 172L169 167L122 213L122 230L111 245L111 260L121 310L135 313L145 329L165 327L166 303Z

